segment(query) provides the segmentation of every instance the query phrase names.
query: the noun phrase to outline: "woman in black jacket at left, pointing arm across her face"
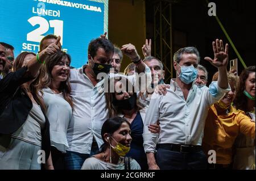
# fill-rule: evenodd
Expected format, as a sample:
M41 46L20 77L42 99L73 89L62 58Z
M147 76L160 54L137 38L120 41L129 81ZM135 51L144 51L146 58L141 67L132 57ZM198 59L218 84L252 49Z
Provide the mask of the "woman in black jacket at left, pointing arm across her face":
M53 169L49 122L38 94L39 70L48 55L59 50L52 43L35 55L21 53L14 72L0 81L0 169Z

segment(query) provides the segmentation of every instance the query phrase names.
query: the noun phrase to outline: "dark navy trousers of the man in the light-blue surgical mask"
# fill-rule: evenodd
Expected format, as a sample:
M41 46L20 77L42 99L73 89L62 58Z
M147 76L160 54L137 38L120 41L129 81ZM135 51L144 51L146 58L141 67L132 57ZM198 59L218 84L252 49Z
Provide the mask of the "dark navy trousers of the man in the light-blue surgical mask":
M161 170L205 170L207 157L203 150L180 153L159 148L156 152L156 164Z

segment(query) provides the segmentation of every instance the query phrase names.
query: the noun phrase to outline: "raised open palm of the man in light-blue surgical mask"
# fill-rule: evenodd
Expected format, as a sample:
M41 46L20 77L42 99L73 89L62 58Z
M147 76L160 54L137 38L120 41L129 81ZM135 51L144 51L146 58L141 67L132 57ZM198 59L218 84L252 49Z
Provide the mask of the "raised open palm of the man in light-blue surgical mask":
M204 60L207 60L216 68L226 67L228 65L228 44L224 45L222 40L216 39L216 42L213 41L212 43L213 52L214 52L214 59L210 57L205 57Z

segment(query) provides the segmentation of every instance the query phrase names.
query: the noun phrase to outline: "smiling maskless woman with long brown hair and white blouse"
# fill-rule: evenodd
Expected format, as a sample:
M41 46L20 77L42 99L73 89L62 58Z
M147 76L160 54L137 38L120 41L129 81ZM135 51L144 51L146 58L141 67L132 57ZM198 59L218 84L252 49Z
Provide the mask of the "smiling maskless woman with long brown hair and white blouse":
M69 84L71 57L59 50L46 59L44 73L40 75L40 89L46 104L51 136L51 155L55 170L63 170L64 153L68 149L67 130L73 102Z

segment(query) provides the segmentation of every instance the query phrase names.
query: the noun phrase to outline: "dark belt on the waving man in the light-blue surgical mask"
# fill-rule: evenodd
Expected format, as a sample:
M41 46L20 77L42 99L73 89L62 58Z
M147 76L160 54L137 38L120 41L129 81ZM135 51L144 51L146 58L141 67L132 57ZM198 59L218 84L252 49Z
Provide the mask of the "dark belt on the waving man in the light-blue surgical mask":
M158 148L177 151L180 153L199 152L202 150L202 146L200 145L158 144L156 145L156 149Z

